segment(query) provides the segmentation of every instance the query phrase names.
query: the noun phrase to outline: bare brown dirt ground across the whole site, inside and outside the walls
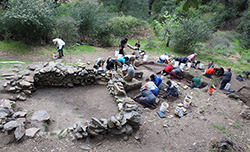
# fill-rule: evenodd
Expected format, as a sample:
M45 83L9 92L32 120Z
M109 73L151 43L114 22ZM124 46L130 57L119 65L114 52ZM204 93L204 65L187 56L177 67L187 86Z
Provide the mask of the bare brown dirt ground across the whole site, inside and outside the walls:
M84 53L70 55L63 58L64 62L93 63L98 57L114 57L114 48L100 49L97 53ZM157 55L149 55L149 60L157 60ZM1 53L1 58L15 59L21 61L47 62L52 57L14 56ZM205 64L206 65L206 64ZM90 65L89 67L91 67ZM141 81L145 82L152 73L162 70L163 66L140 66L138 70L143 71ZM1 73L10 69L3 68ZM202 75L202 71L189 70L193 75ZM231 88L238 90L242 85L249 86L249 80L238 82L233 75ZM167 81L163 77L163 83ZM202 81L209 85L216 82L214 79L202 77ZM177 80L186 84L186 80ZM2 86L3 79L0 79ZM162 85L164 88L164 84ZM97 152L165 152L165 151L209 151L211 140L229 138L245 151L250 151L250 121L239 116L246 105L235 99L230 99L224 94L225 91L215 90L212 96L206 94L206 89L184 90L179 88L181 94L176 100L161 99L161 102L168 102L171 110L165 113L167 118L160 118L157 115L160 104L156 109L139 108L142 112L141 127L132 136L105 135L84 140L71 141L69 138L59 139L56 135L37 134L35 138L25 137L20 142L12 141L10 135L0 134L0 151L85 151L82 146L91 148L90 151ZM139 90L128 92L134 96ZM174 115L175 106L184 100L186 95L191 95L192 106L187 109L188 114L182 118ZM6 98L11 94L1 92L0 98ZM26 109L28 112L36 110L47 110L52 122L48 131L57 131L72 126L74 122L88 120L91 116L109 117L117 112L113 97L108 94L106 86L88 86L74 88L42 88L38 89L27 101L18 102L18 110ZM173 115L172 118L169 116ZM29 119L29 117L28 117ZM44 127L42 124L29 124L30 126ZM42 128L41 132L46 128ZM5 142L3 142L5 141Z

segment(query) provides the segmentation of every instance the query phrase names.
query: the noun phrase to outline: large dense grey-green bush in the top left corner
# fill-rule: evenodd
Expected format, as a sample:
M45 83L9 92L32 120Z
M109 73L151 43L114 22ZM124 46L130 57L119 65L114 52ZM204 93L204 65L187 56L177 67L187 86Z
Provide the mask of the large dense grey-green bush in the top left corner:
M2 16L4 38L27 44L48 42L55 25L53 10L54 4L47 1L9 1Z

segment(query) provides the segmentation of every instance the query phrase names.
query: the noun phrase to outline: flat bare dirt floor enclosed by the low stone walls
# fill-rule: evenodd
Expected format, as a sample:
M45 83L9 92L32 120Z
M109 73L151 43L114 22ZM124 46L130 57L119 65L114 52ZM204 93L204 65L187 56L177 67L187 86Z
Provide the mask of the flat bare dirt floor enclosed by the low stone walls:
M74 88L41 88L16 108L31 111L46 110L50 124L31 121L29 127L43 131L55 131L73 126L77 121L88 121L91 117L110 118L117 113L117 105L104 85L76 86Z

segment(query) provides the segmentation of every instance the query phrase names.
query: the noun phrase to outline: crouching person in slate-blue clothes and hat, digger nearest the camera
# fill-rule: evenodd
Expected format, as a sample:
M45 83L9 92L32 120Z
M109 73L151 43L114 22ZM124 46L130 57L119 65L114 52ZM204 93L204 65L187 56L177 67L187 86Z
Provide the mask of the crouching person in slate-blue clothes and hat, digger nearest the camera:
M144 107L155 107L155 95L145 86L140 88L140 94L136 95L133 99L138 101Z

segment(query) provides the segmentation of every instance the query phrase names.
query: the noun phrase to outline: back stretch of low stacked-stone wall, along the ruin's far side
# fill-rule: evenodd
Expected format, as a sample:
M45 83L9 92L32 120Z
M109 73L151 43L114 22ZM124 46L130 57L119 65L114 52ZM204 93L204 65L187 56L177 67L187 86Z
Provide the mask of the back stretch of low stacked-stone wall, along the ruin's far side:
M3 87L8 92L18 93L17 100L25 100L25 96L31 95L36 90L35 86L63 86L86 84L107 84L111 74L97 72L95 69L85 69L64 65L55 62L40 65L31 65L23 74L6 73L2 75L6 82Z

